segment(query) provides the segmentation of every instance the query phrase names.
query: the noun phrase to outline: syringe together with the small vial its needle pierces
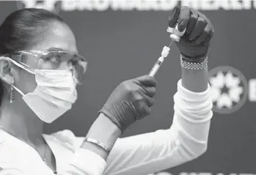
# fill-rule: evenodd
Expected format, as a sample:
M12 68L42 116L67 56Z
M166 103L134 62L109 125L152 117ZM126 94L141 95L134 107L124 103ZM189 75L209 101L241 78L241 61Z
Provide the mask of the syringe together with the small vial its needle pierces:
M183 36L183 34L185 33L186 29L184 29L182 32L180 32L178 30L178 25L175 26L175 28L170 28L168 27L167 29L168 32L171 33L171 35L169 36L173 41L179 42L180 41L180 37ZM152 67L152 69L150 70L150 73L148 75L150 76L155 76L156 72L158 71L158 69L161 67L161 64L164 62L164 58L168 56L169 54L169 49L172 45L172 42L169 44L169 46L164 46L161 56L159 57L159 59L156 61L156 63L154 64L154 66Z

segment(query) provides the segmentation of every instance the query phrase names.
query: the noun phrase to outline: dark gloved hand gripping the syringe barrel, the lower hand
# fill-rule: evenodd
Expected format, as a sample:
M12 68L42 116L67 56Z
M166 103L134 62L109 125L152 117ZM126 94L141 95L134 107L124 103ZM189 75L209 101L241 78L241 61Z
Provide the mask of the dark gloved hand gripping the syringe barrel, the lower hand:
M123 81L114 89L99 113L111 119L123 132L150 113L155 93L156 80L149 75Z

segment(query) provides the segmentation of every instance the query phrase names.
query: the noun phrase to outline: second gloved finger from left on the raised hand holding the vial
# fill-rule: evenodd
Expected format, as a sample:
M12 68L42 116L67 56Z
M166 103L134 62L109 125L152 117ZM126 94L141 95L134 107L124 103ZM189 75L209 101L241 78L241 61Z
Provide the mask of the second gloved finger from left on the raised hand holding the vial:
M178 30L179 31L183 31L186 26L189 23L189 18L190 18L190 14L191 14L191 10L189 9L189 7L181 7L180 9L180 15L178 18Z

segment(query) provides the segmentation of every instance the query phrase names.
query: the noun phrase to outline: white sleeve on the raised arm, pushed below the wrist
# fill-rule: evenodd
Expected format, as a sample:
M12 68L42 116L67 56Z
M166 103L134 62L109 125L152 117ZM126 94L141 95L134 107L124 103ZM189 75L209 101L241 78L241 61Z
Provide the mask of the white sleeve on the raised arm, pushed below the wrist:
M120 138L106 161L103 174L151 174L186 163L205 152L213 113L210 86L190 92L178 81L174 118L169 130ZM159 119L161 116L158 116Z

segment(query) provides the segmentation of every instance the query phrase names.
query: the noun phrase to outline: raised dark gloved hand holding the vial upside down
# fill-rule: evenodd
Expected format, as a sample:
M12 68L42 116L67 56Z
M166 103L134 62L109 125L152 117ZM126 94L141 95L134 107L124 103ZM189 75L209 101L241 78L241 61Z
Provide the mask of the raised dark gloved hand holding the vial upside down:
M169 27L174 28L178 22L179 31L186 29L180 42L175 42L185 61L202 62L214 33L211 21L197 10L178 6L171 11L168 20Z

